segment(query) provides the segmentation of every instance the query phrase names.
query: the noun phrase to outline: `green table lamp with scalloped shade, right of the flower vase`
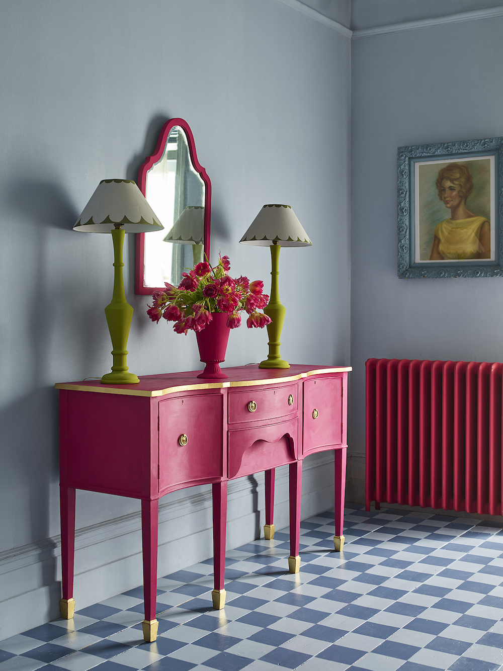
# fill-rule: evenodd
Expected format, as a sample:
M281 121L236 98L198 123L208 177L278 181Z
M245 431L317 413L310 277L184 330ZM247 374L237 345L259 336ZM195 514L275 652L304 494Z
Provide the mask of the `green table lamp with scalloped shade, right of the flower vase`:
M280 355L280 336L286 313L278 293L280 247L304 247L313 243L290 205L264 205L239 242L271 248L271 294L269 304L264 308L272 320L267 326L269 354L259 368L290 368L288 361Z

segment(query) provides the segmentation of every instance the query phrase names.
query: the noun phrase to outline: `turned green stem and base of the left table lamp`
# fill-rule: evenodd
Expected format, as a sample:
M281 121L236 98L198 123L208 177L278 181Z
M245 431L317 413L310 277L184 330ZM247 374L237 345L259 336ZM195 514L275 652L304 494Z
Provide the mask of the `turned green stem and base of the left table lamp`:
M137 376L127 372L127 337L131 318L133 317L133 308L125 299L124 282L122 268L122 249L124 244L124 229L115 228L111 231L113 240L113 296L110 305L105 307L105 315L112 339L112 372L103 375L101 382L103 384L137 384Z

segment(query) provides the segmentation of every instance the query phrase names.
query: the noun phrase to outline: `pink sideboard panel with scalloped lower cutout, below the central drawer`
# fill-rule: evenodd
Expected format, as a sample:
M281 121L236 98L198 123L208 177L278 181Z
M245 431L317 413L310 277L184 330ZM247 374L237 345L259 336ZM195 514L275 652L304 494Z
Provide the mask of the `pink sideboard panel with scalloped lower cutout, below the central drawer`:
M291 464L296 459L298 418L253 429L228 431L229 478Z

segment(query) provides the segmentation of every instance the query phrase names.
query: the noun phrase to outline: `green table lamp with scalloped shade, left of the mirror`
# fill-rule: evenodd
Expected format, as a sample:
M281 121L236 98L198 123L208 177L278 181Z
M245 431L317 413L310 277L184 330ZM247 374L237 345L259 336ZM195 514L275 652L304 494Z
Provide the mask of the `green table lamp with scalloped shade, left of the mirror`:
M111 233L113 240L113 296L105 307L112 339L112 372L103 375L103 384L136 384L137 376L127 372L127 336L133 308L125 299L122 275L122 248L125 233L158 231L163 226L135 182L130 179L103 179L74 225L74 231Z

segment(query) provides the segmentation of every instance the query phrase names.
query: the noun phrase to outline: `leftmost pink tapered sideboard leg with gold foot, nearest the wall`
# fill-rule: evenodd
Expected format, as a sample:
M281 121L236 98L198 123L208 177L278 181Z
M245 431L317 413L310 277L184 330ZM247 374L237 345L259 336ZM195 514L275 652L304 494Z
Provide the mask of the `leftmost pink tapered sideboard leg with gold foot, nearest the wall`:
M73 598L73 558L75 553L75 489L60 486L61 510L61 565L63 598L60 601L61 617L71 620L75 610Z

